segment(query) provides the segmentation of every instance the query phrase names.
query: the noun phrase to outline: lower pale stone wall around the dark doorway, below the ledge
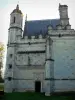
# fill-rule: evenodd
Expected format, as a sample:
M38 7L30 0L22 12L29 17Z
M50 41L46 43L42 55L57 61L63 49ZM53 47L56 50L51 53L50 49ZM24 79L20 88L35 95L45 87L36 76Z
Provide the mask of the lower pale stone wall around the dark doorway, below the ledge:
M35 66L36 67L36 66ZM17 68L14 77L14 88L17 91L35 91L35 81L41 81L41 91L44 88L44 69ZM17 83L17 84L16 84Z

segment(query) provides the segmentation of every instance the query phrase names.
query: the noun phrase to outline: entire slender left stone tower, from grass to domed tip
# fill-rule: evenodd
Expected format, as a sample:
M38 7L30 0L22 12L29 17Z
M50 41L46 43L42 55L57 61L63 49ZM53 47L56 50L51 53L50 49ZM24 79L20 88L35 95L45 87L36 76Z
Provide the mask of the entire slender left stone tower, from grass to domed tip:
M16 43L17 36L22 36L22 12L19 10L19 5L10 14L10 26L8 30L8 47L7 47L7 60L4 75L4 91L12 92L16 88L15 83L15 55L16 55Z

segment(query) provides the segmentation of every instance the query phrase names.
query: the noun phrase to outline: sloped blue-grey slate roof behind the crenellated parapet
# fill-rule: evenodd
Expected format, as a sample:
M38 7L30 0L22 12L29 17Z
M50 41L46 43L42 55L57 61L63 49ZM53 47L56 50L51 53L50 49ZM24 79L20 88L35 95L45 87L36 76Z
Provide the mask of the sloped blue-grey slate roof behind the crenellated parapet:
M56 25L60 23L60 19L49 20L32 20L27 21L24 27L24 36L36 36L39 34L46 35L47 27L51 25L53 29L56 29Z

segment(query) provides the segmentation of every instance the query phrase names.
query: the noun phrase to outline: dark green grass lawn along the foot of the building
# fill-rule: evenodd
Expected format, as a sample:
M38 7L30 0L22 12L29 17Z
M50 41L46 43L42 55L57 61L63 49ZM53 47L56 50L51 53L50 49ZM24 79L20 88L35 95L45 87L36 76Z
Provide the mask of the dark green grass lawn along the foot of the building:
M41 93L5 93L4 98L4 100L75 100L75 94L46 97Z

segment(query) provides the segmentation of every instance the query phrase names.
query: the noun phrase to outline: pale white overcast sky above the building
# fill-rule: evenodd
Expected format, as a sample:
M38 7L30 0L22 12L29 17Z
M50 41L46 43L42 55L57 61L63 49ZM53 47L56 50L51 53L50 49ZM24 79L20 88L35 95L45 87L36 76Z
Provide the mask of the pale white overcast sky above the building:
M59 3L68 5L70 24L75 29L75 0L1 0L0 1L0 42L6 46L10 13L16 8L19 1L20 10L23 12L23 25L25 15L27 20L59 18Z

